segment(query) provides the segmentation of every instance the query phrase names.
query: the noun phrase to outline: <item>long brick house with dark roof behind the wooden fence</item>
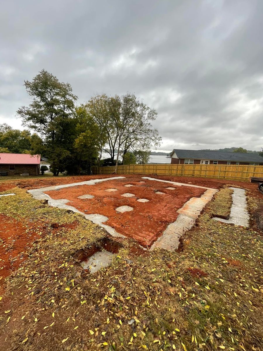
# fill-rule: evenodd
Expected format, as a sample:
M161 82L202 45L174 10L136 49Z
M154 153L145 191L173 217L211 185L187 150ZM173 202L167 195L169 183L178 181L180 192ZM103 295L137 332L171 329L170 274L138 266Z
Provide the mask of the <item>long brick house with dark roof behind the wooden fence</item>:
M175 165L263 165L263 157L254 153L174 149L170 157Z

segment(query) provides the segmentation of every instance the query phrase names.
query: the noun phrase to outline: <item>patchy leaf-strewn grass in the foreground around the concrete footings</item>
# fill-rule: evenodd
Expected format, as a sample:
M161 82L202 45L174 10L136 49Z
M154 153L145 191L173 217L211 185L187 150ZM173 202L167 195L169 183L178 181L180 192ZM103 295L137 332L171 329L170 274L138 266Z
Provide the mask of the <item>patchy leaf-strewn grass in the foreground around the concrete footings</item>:
M5 350L262 350L262 232L211 219L226 213L227 190L184 236L182 252L123 240L112 267L89 274L74 253L104 231L12 189L0 212L35 224L40 238L0 302ZM253 203L249 195L255 212Z

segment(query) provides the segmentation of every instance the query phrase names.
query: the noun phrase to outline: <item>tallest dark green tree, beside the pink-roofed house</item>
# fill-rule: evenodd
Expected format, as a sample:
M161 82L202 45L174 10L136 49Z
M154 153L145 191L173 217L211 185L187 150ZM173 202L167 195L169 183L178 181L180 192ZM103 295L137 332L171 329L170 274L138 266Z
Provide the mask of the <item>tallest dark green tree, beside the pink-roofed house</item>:
M36 143L35 152L45 153L56 176L65 169L73 148L77 97L69 83L60 82L44 69L24 85L32 103L22 106L17 113L23 125L41 135L43 142Z

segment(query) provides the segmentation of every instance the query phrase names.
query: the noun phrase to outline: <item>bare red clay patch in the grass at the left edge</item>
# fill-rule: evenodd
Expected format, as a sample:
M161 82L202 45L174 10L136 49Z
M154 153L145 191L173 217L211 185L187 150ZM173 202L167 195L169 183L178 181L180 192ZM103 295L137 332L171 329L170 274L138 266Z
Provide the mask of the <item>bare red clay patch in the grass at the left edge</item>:
M0 286L26 259L27 247L39 235L20 221L0 214Z

